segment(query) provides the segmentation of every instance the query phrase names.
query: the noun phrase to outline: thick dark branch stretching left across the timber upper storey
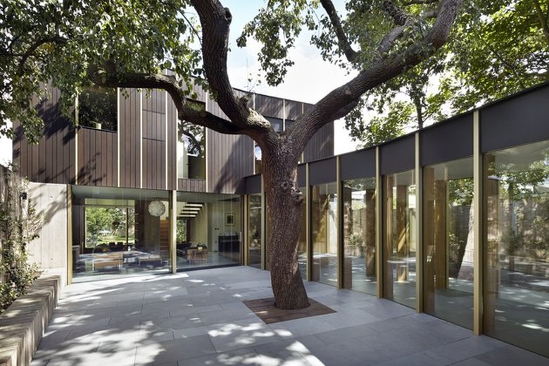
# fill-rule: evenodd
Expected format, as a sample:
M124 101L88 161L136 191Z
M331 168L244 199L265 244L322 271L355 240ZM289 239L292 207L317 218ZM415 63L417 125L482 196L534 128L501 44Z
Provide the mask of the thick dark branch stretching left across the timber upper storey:
M97 68L90 68L88 78L94 84L101 87L120 88L143 88L143 89L164 89L172 97L177 108L177 118L203 127L208 127L222 134L242 134L241 128L230 121L219 118L206 111L196 111L187 104L187 97L184 89L172 75L160 74L139 74L111 72L99 72Z

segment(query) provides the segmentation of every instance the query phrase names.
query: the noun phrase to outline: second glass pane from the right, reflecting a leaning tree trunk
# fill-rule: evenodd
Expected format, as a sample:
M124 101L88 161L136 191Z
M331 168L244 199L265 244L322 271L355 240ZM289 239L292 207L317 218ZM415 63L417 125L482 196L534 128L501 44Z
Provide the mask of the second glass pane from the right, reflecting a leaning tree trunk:
M424 310L473 328L473 160L424 168Z

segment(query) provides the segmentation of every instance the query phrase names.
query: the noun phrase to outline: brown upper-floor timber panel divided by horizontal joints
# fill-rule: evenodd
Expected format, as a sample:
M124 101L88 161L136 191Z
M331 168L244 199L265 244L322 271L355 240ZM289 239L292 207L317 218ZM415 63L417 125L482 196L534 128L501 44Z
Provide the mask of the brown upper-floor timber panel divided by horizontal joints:
M143 95L143 187L166 187L166 94L155 89Z

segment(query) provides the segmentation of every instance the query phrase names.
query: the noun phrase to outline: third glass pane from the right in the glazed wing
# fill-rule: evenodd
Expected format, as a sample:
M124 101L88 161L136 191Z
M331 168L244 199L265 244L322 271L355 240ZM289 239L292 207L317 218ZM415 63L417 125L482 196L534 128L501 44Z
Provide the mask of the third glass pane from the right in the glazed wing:
M415 308L414 170L384 177L384 296Z

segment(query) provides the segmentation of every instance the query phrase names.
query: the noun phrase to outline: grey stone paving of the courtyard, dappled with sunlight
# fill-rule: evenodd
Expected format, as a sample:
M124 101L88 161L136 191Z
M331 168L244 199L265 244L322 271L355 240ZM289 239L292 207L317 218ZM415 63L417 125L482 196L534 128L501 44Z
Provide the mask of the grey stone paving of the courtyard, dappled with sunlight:
M306 283L336 313L264 324L269 272L228 267L68 286L31 365L548 365L521 348L355 291Z

